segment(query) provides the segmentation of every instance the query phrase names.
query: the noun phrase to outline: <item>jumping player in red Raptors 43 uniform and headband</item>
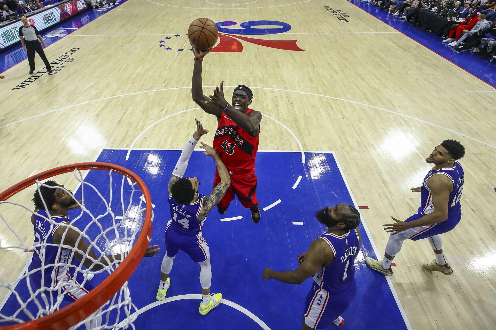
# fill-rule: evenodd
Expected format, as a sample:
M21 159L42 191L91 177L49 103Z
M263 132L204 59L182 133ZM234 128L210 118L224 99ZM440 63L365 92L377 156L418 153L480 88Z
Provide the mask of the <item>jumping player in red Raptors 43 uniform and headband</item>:
M224 82L220 83L213 95L203 95L201 64L208 51L193 48L195 57L191 96L203 111L217 117L218 127L217 132L215 132L213 147L221 156L231 175L231 186L224 198L217 204L217 209L220 214L226 213L229 204L236 195L241 204L251 210L251 220L256 224L260 221L260 209L255 197L255 155L258 150L258 134L260 134L262 114L248 108L253 93L244 85L239 85L234 89L232 105L224 98L222 88ZM218 183L220 183L220 177L216 170L214 186Z

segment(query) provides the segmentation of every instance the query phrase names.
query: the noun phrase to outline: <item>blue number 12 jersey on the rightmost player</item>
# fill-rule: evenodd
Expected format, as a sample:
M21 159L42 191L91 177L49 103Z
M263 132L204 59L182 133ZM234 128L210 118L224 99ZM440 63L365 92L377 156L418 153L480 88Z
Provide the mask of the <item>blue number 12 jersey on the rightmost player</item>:
M430 170L422 183L420 191L420 207L418 213L422 215L429 214L434 211L431 189L427 187L427 180L433 175L445 175L453 182L453 190L449 193L448 202L448 220L459 217L461 215L460 199L462 198L463 190L463 168L458 162L453 162L452 167L442 168L440 170Z

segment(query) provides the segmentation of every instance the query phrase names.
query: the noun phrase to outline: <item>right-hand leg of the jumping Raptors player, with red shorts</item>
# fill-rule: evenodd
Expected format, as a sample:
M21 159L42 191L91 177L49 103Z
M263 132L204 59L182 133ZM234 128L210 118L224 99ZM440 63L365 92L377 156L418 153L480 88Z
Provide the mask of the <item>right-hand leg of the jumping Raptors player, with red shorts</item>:
M231 175L231 187L233 187L241 204L250 209L251 220L255 224L260 221L260 209L258 208L258 200L256 199L256 186L255 173Z

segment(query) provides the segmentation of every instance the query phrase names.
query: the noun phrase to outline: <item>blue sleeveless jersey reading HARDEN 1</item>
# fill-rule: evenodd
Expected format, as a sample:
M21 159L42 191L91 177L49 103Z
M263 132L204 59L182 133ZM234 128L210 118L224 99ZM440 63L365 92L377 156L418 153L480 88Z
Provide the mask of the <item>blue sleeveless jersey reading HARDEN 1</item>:
M329 244L334 261L327 267L320 267L313 280L329 293L343 292L355 280L355 258L360 250L357 231L354 229L343 236L323 233L318 237Z

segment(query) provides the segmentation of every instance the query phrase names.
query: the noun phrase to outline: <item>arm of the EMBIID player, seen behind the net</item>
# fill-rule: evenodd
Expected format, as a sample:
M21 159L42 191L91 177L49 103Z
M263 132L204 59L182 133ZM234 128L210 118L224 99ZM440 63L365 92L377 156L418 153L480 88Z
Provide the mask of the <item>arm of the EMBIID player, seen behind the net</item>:
M55 244L59 244L61 246L71 248L77 246L76 250L74 251L74 257L79 261L83 261L84 258L83 266L90 271L98 271L103 269L104 267L107 267L109 265L107 260L102 257L100 259L97 258L97 256L95 255L95 251L89 246L89 244L83 239L82 236L82 233L74 225L70 225L69 227L59 226L59 228L55 230L52 236L52 240ZM144 257L151 257L158 251L160 251L160 247L158 247L158 245L148 246L146 248ZM83 253L87 254L84 255ZM120 261L121 255L108 255L107 258L109 258L111 262Z

